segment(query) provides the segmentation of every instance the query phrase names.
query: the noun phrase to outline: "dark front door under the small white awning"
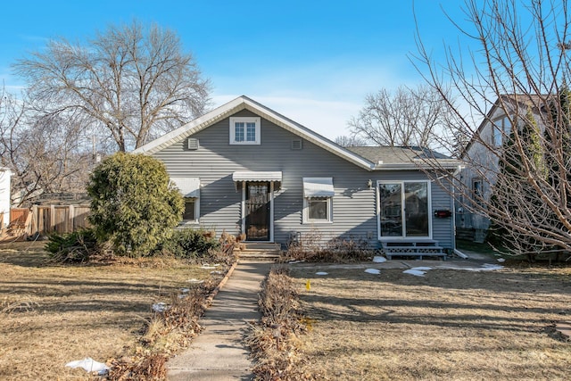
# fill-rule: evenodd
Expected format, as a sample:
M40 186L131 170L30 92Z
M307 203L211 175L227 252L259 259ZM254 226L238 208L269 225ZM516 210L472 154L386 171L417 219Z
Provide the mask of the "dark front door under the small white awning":
M248 182L245 189L245 233L248 241L269 241L269 182Z

